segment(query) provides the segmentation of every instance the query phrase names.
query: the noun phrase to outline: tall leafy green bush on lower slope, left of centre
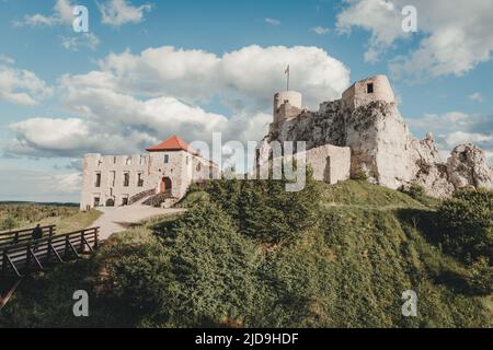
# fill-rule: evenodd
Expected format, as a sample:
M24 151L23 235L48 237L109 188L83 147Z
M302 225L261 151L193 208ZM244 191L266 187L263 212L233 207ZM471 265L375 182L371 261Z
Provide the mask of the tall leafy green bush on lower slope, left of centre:
M168 325L242 325L252 311L256 255L228 214L195 207L159 236L173 275Z

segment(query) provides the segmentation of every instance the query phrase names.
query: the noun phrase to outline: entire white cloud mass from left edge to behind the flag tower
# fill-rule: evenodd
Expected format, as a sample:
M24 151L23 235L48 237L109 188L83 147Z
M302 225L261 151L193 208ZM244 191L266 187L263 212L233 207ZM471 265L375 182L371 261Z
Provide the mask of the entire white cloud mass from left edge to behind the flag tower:
M38 116L10 126L9 155L80 158L88 152L140 153L176 133L192 142L222 139L259 141L272 121L272 96L291 84L317 107L339 98L349 70L314 47L249 46L218 57L203 50L151 48L139 55L112 54L100 69L58 80L67 116ZM231 114L199 107L210 101Z

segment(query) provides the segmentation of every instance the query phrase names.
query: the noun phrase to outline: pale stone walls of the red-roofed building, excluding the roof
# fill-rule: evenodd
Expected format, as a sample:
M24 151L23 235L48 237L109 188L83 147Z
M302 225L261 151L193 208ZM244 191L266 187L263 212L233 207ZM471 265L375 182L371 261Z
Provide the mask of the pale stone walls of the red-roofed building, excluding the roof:
M209 178L209 174L217 173L215 164L185 151L150 152L133 156L85 154L80 208L93 208L98 199L99 206L104 207L113 201L118 207L142 191L158 194L164 177L171 180L171 196L180 199L192 182ZM101 174L99 184L98 174ZM128 174L128 185L125 184L125 174Z

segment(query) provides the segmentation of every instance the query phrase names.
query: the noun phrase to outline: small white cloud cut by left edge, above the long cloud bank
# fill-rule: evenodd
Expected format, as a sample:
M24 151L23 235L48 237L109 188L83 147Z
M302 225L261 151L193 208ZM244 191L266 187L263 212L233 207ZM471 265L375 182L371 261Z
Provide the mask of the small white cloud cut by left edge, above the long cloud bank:
M34 105L48 95L53 89L28 70L0 65L0 102L18 105Z

